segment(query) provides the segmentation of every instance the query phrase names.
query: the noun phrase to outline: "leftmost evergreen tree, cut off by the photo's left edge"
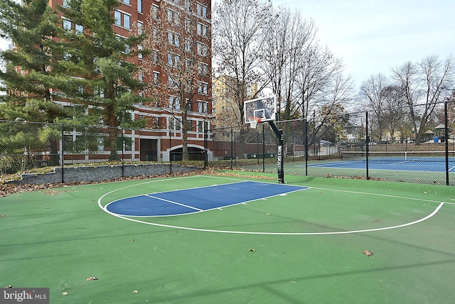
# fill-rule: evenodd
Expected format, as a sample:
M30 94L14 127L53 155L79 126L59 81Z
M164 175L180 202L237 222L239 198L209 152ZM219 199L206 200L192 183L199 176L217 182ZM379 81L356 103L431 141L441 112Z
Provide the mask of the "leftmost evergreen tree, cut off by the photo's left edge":
M53 102L53 50L58 42L58 16L47 0L0 2L0 35L11 38L15 48L0 53L6 63L0 119L54 122L67 117Z

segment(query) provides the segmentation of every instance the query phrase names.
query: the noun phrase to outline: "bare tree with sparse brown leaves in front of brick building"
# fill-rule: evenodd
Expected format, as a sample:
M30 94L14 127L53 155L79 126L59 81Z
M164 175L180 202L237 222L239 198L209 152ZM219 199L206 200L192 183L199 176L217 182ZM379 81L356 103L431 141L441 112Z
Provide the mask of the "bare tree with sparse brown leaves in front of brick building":
M155 106L173 116L168 128L181 128L183 161L188 160L188 131L197 127L188 123L188 112L206 113L209 118L211 26L192 13L195 8L194 1L185 6L162 1L159 9L152 8L144 28L148 32L144 49L149 52L143 65L150 79L147 94L156 99Z

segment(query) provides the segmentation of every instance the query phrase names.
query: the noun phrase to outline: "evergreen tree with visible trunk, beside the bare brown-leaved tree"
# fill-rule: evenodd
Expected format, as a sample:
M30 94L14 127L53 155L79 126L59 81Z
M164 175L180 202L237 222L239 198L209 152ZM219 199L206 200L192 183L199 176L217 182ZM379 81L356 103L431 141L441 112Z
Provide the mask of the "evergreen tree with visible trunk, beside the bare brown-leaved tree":
M128 38L116 36L112 24L117 0L72 0L61 7L65 15L62 45L65 69L74 76L65 96L84 104L92 122L109 126L109 159L117 159L117 127L144 126L130 111L141 102L141 71L132 63L143 37L138 31ZM132 32L134 33L134 32ZM59 86L60 87L60 86ZM62 86L63 87L63 86Z

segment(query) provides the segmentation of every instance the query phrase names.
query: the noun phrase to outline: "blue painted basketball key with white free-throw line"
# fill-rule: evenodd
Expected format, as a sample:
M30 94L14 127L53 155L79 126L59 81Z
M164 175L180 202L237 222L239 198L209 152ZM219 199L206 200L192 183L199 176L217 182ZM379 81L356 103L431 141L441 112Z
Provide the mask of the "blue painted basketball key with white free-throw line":
M245 181L126 197L110 202L106 209L117 215L137 217L186 215L304 189L307 188Z

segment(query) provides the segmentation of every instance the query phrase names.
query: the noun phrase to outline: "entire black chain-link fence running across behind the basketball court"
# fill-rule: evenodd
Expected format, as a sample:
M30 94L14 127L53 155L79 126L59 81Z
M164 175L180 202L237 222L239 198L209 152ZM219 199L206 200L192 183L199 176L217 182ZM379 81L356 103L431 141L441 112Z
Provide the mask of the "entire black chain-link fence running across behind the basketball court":
M277 121L284 134L284 173L455 185L455 102L433 105ZM267 122L256 129L200 126L188 132L190 160L204 168L277 172L279 141ZM106 162L172 163L183 158L182 136L176 129L0 121L0 174Z

